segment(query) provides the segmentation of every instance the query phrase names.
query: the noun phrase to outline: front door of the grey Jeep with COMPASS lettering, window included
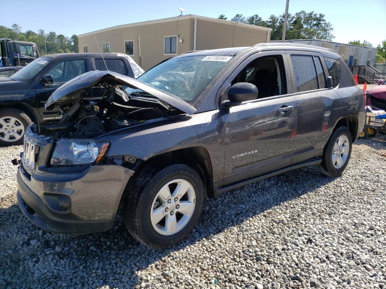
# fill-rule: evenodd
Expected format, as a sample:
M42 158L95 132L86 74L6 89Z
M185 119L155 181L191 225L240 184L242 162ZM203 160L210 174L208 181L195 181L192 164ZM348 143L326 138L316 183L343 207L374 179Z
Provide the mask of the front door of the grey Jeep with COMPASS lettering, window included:
M286 55L283 51L258 55L245 60L230 77L230 85L249 82L257 86L259 94L254 101L221 112L223 185L288 166L292 161L297 103L287 86L290 78Z

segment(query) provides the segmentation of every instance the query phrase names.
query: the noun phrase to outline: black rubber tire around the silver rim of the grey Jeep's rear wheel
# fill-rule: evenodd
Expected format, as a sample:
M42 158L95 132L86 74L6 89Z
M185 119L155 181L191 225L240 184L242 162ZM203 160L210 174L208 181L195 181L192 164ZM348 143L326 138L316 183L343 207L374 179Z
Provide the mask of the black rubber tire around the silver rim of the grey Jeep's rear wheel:
M335 168L334 164L332 163L332 151L334 150L334 144L337 141L337 139L341 136L345 135L349 139L349 154L347 156L347 160L344 163L344 165L341 168ZM323 153L323 160L322 165L324 166L325 170L331 175L331 176L339 176L342 175L343 171L345 170L346 166L348 165L351 157L351 150L352 150L352 137L349 129L345 126L341 126L337 128L334 133L332 134L330 140L328 141L327 148L325 149Z

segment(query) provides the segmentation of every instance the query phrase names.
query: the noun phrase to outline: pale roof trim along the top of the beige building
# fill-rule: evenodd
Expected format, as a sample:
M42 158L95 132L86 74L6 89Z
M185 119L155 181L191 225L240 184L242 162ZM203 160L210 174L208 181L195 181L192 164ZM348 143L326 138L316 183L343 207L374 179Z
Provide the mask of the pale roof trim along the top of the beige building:
M212 18L212 17L206 17L206 16L200 16L200 15L194 15L194 14L188 14L188 15L179 15L175 17L169 17L169 18L162 18L162 19L156 19L156 20L148 20L148 21L142 21L142 22L135 22L135 23L130 23L130 24L122 24L122 25L116 25L100 30L95 30L87 33L83 33L78 35L78 37L84 37L88 35L92 35L95 33L100 33L100 32L106 32L110 30L115 30L115 29L120 29L120 28L127 28L127 27L135 27L135 26L140 26L140 25L147 25L147 24L157 24L157 23L164 23L164 22L170 22L174 20L185 20L185 19L202 19L202 20L207 20L207 21L212 21L212 22L218 22L218 23L223 23L223 24L228 24L228 25L237 25L237 26L242 26L242 27L249 27L257 30L266 30L266 31L272 31L271 28L268 27L263 27L263 26L257 26L257 25L252 25L252 24L246 24L246 23L241 23L241 22L235 22L235 21L230 21L230 20L223 20L223 19L218 19L218 18Z

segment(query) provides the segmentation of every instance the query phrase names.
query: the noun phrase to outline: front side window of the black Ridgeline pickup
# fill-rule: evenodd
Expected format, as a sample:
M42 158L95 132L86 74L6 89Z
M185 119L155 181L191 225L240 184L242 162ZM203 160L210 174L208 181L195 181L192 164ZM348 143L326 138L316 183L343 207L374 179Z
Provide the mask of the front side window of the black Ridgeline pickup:
M64 60L54 66L48 74L56 82L67 82L74 77L86 72L86 63L84 59Z

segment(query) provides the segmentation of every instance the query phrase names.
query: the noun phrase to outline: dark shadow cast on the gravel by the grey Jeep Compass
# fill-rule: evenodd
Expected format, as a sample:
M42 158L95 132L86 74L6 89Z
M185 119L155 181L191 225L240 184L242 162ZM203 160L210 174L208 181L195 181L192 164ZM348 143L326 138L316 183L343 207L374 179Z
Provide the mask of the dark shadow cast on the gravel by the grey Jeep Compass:
M308 178L305 178L305 175L308 175ZM308 183L304 180L308 180ZM207 199L202 216L193 232L180 244L164 250L151 249L139 244L125 228L121 212L118 213L110 231L98 234L74 236L42 232L40 236L37 234L39 229L30 225L32 236L29 239L36 238L41 244L30 245L30 241L23 239L22 234L18 235L17 240L9 241L17 242L16 244L23 242L28 249L23 252L14 250L13 254L10 252L8 260L0 261L0 270L4 270L5 274L13 276L11 272L6 272L8 269L20 271L19 280L5 283L2 281L0 288L18 288L20 284L26 288L38 287L37 284L39 288L46 285L64 288L71 287L71 284L74 288L82 289L99 288L104 285L110 288L132 288L141 283L138 271L141 271L141 276L147 272L161 276L168 262L164 257L171 252L204 238L210 239L229 228L237 229L237 225L251 217L259 214L263 214L264 217L264 214L274 213L274 209L271 208L298 198L333 180L335 178L323 177L314 168L306 167L223 193L216 200ZM20 210L14 210L15 206L2 209L0 216L4 217L8 210L12 210L14 218L22 220L20 218L22 213ZM11 222L7 230L22 230L21 226L25 226L27 222L27 220ZM5 229L2 225L0 234L3 234ZM7 241L1 242L3 243L1 250L11 247ZM161 262L152 266L159 260ZM39 264L42 269L39 269Z

